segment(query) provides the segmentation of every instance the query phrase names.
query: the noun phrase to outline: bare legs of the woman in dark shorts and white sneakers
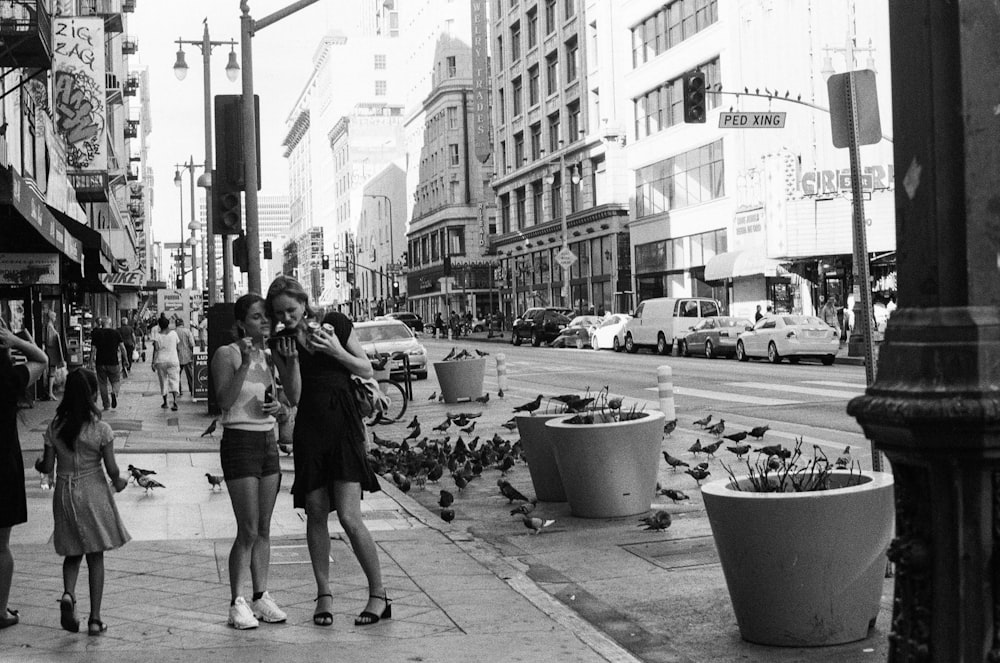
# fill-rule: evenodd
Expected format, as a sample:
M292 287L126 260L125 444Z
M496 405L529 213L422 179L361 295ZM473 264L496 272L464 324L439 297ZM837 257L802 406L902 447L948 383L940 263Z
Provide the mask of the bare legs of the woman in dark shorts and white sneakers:
M271 563L271 514L281 474L226 482L236 515L236 540L229 551L229 591L235 601L246 584L247 567L254 593L267 590Z

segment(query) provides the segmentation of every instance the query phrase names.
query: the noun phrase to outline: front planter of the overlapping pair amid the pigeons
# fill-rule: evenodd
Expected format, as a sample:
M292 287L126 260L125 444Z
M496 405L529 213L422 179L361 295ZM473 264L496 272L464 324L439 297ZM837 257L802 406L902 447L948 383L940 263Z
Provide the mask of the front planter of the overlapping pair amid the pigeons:
M642 415L594 424L568 424L573 415L564 415L546 422L574 516L619 518L649 510L656 492L663 413Z

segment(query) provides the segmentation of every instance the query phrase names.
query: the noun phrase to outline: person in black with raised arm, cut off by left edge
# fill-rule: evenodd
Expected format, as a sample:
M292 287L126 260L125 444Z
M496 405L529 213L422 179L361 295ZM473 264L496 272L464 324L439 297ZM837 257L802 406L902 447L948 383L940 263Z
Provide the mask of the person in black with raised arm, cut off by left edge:
M12 349L20 351L27 361L15 366L10 356ZM47 364L48 357L40 347L16 336L0 318L0 629L18 622L17 611L7 603L14 577L10 530L28 521L17 402L24 390L42 375Z

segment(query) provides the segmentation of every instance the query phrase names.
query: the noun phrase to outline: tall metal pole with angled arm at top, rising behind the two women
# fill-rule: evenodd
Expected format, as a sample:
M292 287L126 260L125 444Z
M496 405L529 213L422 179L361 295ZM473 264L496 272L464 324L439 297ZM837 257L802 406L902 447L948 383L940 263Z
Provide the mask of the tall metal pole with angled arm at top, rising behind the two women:
M253 103L253 36L259 30L275 23L289 14L308 7L318 0L298 0L283 9L268 14L259 21L250 16L250 3L240 0L240 50L243 55L243 126L248 127L243 132L243 181L246 183L244 193L244 213L246 216L247 240L247 288L250 292L261 292L260 284L260 228L257 223L257 139L254 127L257 126L257 111Z

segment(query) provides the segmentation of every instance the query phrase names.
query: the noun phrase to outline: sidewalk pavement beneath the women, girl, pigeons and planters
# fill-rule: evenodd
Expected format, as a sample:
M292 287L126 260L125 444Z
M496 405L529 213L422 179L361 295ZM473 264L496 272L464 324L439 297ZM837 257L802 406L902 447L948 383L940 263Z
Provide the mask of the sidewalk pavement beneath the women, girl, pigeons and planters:
M452 345L474 347L476 340L424 342L433 358ZM482 348L494 355L501 351ZM430 379L414 383L406 416L375 432L400 441L414 415L426 435L446 412L475 411L482 413L475 434L486 439L497 432L515 439L516 434L500 424L510 417L513 405L537 394L537 387L527 381L508 382L506 398L498 399L490 364L484 385L492 395L490 402L449 405L430 398L437 391L432 373ZM444 662L470 657L484 662L622 663L851 663L885 658L891 580L885 583L876 628L863 641L819 649L753 645L739 638L701 497L693 486L683 484L689 502L653 505L670 509L674 516L665 532L646 532L637 527L637 518L573 518L565 504L542 503L538 515L556 523L530 535L508 515L507 500L496 490L499 471L493 468L462 493L447 477L439 485L428 483L405 494L383 478L383 492L365 496L363 515L379 547L393 599L393 619L375 626L353 624L367 591L332 518L334 624L314 626L315 586L305 523L287 492L292 459L286 456L281 459L285 476L272 523L269 589L289 620L253 631L233 630L226 626L226 560L234 521L228 494L212 491L204 477L206 472L220 473L218 435L201 437L211 422L204 403L192 404L185 396L179 412L159 405L154 374L148 365L137 365L123 382L118 408L106 413L118 436L122 468L132 463L155 469L155 478L166 488L146 494L130 486L117 496L133 540L105 556L103 617L109 630L101 638L59 628L61 559L50 541L51 493L39 488L34 470L26 470L29 522L14 528L11 536L16 569L10 604L21 611L21 624L0 631L0 661L116 662L139 656L186 663L233 656L313 661L331 654L350 661ZM54 406L37 403L22 411L28 468L41 449L41 433ZM672 452L677 445L689 445L696 434L681 404L678 410L681 425L665 442ZM686 478L671 475L669 468L661 468L660 476L671 487L679 486L671 482ZM521 492L532 494L523 464L507 478ZM442 488L456 494L458 517L450 524L440 519L436 506ZM86 617L89 598L83 577L77 596L79 614Z

